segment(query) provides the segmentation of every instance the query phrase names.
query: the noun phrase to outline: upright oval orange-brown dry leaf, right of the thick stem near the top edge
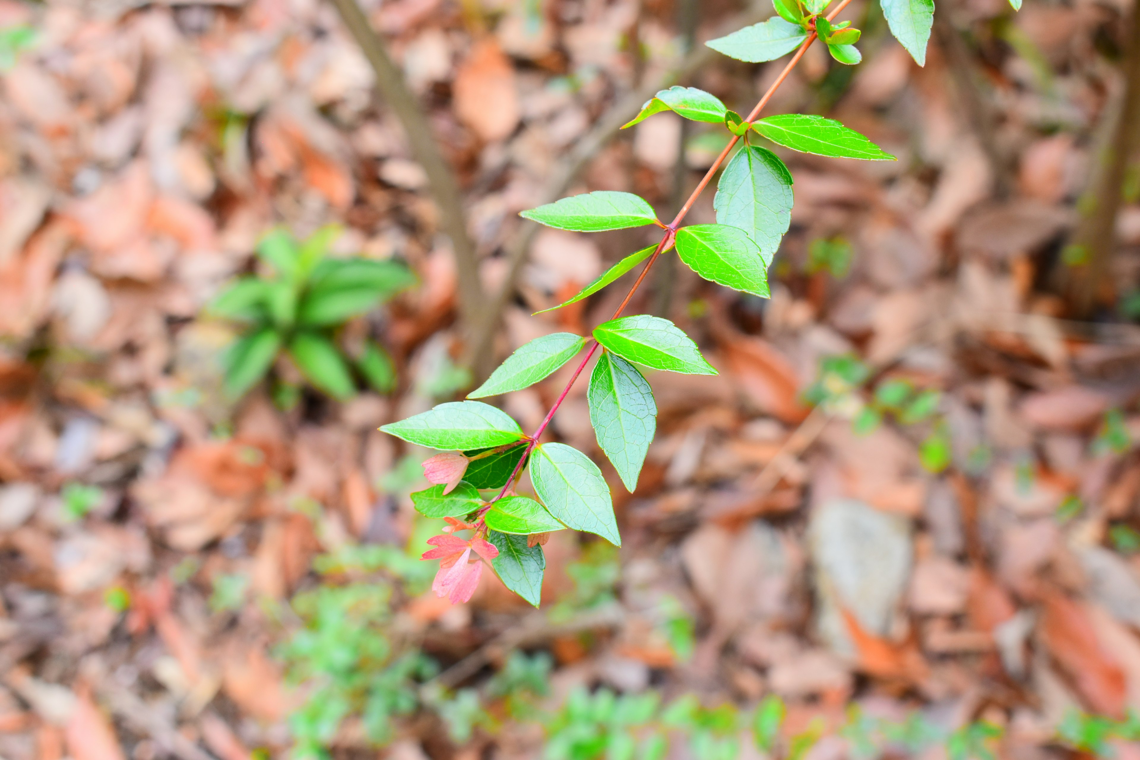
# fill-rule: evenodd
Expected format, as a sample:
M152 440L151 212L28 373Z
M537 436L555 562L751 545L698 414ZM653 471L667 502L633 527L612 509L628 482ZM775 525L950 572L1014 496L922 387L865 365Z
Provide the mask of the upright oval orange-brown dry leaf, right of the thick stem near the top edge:
M505 139L519 124L514 68L494 38L475 42L459 64L451 92L455 114L482 140Z

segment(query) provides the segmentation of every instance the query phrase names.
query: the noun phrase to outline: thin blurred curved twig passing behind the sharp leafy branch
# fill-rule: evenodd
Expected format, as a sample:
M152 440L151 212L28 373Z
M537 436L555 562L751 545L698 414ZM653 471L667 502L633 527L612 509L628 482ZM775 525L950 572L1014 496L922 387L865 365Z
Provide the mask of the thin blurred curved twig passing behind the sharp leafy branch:
M764 14L752 10L733 19L733 26L747 26L764 21L764 18L766 18ZM658 90L674 82L684 81L695 71L711 62L716 55L712 49L700 46L690 51L675 68L658 77L657 81L645 84L610 106L602 114L601 119L598 119L594 129L579 138L551 172L549 180L544 186L542 193L536 196L536 205L557 201L567 191L567 188L570 187L570 183L573 182L578 172L586 166L591 158L597 155L597 152L618 133L621 125L629 121L630 116L636 114L646 100L652 98ZM519 279L519 273L522 271L522 264L527 260L527 252L530 250L530 244L535 240L538 230L539 224L537 222L524 220L503 246L507 260L506 277L489 308L483 312L483 321L475 332L474 340L469 344L466 354L465 363L472 367L477 381L486 378L495 367L495 353L492 351L495 334L503 317L503 311L514 295L515 283Z

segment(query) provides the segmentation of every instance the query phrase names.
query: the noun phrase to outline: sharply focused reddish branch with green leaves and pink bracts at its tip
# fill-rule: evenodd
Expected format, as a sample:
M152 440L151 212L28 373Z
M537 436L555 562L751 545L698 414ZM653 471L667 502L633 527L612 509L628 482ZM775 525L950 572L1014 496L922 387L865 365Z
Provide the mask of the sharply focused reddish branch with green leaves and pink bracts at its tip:
M759 117L816 39L841 64L861 60L855 47L860 31L849 22L834 22L849 2L841 0L825 14L830 0L773 0L776 16L707 43L746 62L774 60L795 50L747 116L727 108L709 92L673 87L658 92L626 124L633 126L671 111L687 120L723 125L730 133L724 150L673 221L660 221L644 198L611 190L576 195L522 212L527 219L563 230L597 232L656 226L663 234L657 245L626 256L576 296L554 307L580 301L641 265L641 273L612 318L595 327L588 338L555 333L531 341L511 354L469 394L469 400L442 403L381 428L409 443L443 452L424 461L424 474L435 485L412 495L421 514L447 522L442 534L429 540L434 548L424 555L425 559L441 561L432 585L439 596L466 602L483 565L490 564L507 588L537 606L546 566L543 545L549 532L586 531L620 545L610 487L601 469L572 447L540 442L543 433L575 382L600 353L586 392L591 423L598 448L622 485L630 492L637 487L657 426L657 403L640 367L689 375L716 375L717 370L692 338L668 319L622 312L653 263L671 251L707 280L762 297L768 295L767 270L791 222L792 175L762 140L822 156L894 161L871 140L831 119L805 114ZM882 8L891 32L921 65L934 19L933 0L882 0ZM718 172L712 202L717 223L682 227L693 203ZM529 435L506 412L474 400L528 387L584 351L562 393ZM515 490L527 467L532 495Z

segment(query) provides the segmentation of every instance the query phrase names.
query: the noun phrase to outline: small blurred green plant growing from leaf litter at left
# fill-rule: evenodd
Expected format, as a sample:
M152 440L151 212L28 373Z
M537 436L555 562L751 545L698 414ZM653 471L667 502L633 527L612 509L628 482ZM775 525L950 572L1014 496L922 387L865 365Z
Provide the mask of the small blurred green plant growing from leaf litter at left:
M394 386L392 360L378 343L365 341L359 356L347 358L335 330L412 286L415 277L396 261L329 256L339 235L329 226L299 243L283 229L269 232L258 246L269 272L239 278L210 304L211 313L244 326L225 357L233 398L266 377L282 351L314 387L339 400L356 393L350 366L382 393ZM285 384L274 395L286 407L300 398Z

